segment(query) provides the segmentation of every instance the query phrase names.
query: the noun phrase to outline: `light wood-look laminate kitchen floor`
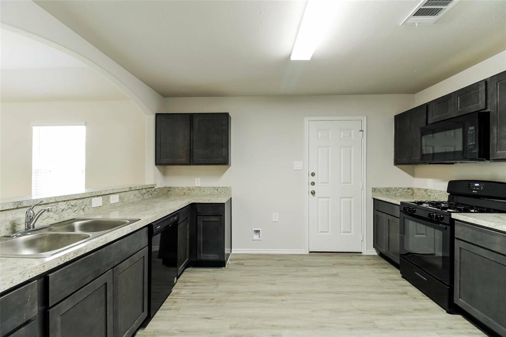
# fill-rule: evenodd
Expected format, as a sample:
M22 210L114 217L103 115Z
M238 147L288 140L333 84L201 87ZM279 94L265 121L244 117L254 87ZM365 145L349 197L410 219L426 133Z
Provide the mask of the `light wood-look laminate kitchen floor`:
M377 256L234 254L189 268L137 336L477 336Z

